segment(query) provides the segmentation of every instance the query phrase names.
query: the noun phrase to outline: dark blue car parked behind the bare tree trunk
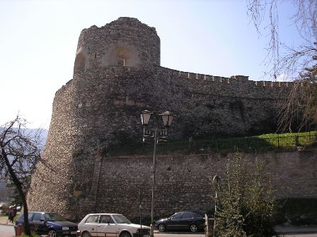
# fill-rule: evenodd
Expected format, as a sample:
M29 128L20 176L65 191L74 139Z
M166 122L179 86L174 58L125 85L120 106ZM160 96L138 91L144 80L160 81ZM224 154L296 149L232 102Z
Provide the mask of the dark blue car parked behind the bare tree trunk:
M31 231L38 235L47 235L48 237L57 236L76 236L77 224L67 221L59 214L52 212L28 212L28 221ZM24 214L16 219L14 229L16 231L18 225L24 224Z

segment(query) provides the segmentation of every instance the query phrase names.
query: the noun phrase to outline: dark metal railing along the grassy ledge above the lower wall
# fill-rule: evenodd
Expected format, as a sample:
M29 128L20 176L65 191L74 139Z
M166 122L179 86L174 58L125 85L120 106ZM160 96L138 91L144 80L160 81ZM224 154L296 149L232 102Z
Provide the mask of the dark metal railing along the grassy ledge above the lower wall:
M234 138L214 140L171 141L157 145L157 154L207 154L207 153L261 153L261 152L285 152L299 150L300 147L316 146L317 134L283 136L276 135L273 138ZM121 145L110 147L109 157L134 156L153 154L153 144L137 143L134 145Z

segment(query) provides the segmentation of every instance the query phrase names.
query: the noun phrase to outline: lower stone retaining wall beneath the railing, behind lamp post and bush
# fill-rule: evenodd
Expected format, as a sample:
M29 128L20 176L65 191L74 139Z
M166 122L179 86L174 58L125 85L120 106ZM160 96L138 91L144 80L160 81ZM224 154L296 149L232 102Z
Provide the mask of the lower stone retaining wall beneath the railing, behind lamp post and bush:
M316 151L241 154L253 164L265 164L265 173L277 190L277 198L316 197ZM159 156L154 193L156 219L186 209L212 212L212 178L224 177L224 166L235 154ZM80 201L78 212L120 212L139 215L139 189L143 216L151 216L151 167L153 157L104 157L96 159L91 196ZM87 208L88 207L88 208Z

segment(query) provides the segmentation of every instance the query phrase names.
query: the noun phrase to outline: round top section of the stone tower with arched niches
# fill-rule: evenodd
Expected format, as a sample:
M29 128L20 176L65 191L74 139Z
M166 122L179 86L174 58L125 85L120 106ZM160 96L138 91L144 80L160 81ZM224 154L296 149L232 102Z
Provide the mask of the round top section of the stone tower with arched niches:
M93 25L79 36L74 73L96 67L152 65L160 65L159 36L155 28L135 18L119 18L101 28Z

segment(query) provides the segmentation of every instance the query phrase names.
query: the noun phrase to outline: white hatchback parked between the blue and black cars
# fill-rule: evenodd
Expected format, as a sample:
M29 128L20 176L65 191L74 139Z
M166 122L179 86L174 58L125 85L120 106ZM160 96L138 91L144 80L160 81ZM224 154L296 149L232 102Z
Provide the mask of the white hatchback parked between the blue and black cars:
M79 222L78 229L81 237L148 237L150 232L149 226L132 224L124 215L112 213L88 214Z

